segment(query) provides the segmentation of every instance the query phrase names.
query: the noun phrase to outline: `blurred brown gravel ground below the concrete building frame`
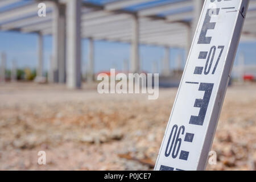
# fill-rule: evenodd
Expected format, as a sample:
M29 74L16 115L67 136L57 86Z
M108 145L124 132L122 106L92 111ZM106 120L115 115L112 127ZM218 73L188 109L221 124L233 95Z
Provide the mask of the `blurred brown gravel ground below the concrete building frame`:
M95 86L0 85L1 170L151 170L177 89L159 99ZM256 85L228 88L208 170L255 170ZM38 152L46 151L46 165Z

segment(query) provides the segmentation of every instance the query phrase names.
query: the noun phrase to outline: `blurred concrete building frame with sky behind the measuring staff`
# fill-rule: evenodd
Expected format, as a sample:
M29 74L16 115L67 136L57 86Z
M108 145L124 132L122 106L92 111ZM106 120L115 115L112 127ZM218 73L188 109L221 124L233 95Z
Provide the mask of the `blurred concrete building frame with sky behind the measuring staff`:
M203 2L1 0L1 81L27 75L80 88L83 78L116 68L158 72L160 86L178 85ZM255 79L255 18L251 0L233 69L239 81Z

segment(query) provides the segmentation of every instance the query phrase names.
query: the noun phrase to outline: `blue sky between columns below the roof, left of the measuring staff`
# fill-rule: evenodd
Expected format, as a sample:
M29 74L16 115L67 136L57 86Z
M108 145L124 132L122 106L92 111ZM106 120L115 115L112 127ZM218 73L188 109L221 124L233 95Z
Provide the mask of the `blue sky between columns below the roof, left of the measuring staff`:
M7 68L11 67L11 61L15 59L18 67L36 67L37 59L37 35L20 34L19 32L0 32L0 52L7 55ZM130 44L96 41L95 44L95 71L108 71L110 68L122 70L123 60L130 60ZM177 55L184 54L183 49L170 49L171 60ZM49 57L52 54L52 37L44 36L44 70L48 68ZM152 63L164 57L163 47L140 46L140 56L143 71L152 71ZM88 61L88 40L82 40L82 62L84 66ZM174 61L170 66L175 67ZM160 69L160 65L158 66Z

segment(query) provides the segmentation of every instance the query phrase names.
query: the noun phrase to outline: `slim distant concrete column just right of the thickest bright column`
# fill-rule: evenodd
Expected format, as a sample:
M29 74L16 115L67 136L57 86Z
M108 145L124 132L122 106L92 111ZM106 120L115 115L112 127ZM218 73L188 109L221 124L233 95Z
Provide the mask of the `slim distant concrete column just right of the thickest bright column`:
M89 55L88 55L88 82L94 80L94 42L92 38L89 38Z

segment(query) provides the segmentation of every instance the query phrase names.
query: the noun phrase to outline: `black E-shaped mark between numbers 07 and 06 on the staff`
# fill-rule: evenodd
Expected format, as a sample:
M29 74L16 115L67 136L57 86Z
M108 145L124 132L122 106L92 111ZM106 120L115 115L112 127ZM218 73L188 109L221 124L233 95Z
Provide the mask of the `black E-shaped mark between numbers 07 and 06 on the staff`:
M189 124L192 125L203 125L205 114L207 112L208 104L210 101L210 95L212 94L214 84L201 83L199 86L199 91L205 91L203 99L196 99L194 107L200 107L199 115L191 115Z

